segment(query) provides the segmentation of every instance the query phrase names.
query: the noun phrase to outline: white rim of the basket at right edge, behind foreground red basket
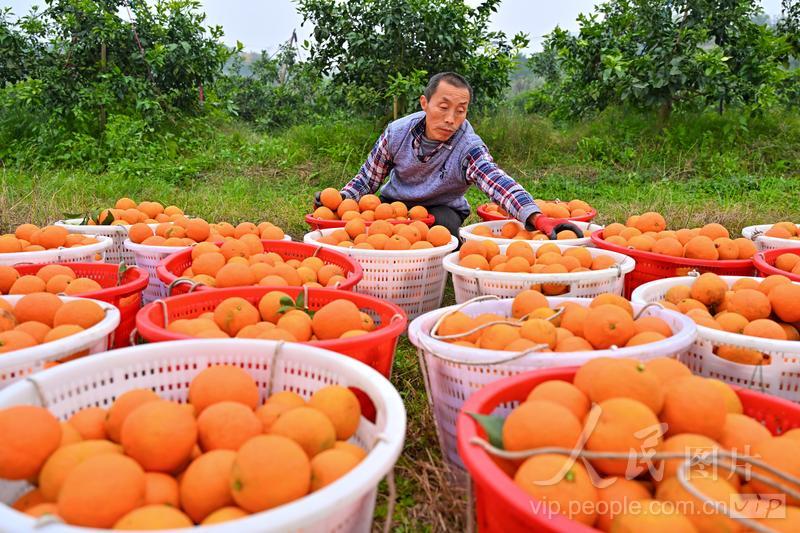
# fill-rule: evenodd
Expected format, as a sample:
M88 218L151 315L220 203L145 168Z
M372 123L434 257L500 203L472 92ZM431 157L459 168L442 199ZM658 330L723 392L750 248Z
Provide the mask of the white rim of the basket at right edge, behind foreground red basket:
M735 281L739 279L754 279L763 280L757 276L720 276L724 281L728 282L730 287ZM660 289L662 287L673 287L676 285L688 285L697 278L694 276L678 276L674 278L665 278L655 281L650 281L639 285L634 289L631 294L631 302L637 304L650 303L648 295L650 292ZM795 285L800 285L800 282L792 282ZM750 335L743 335L741 333L731 333L729 331L720 331L706 326L697 324L697 334L704 339L708 339L717 344L734 344L735 346L743 346L745 348L752 348L754 350L766 350L776 352L800 352L800 341L782 341L778 339L765 339L762 337L752 337ZM739 364L730 361L732 364ZM750 367L752 365L742 365Z

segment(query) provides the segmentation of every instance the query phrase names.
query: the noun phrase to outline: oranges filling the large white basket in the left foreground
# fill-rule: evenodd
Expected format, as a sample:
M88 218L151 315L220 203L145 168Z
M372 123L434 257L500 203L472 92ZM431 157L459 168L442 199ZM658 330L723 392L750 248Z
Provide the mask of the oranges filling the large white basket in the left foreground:
M244 370L214 366L188 403L150 389L59 422L43 407L0 410L0 478L36 485L13 507L74 526L171 529L235 520L298 500L355 468L348 441L361 407L328 386L306 401L276 392L259 405Z

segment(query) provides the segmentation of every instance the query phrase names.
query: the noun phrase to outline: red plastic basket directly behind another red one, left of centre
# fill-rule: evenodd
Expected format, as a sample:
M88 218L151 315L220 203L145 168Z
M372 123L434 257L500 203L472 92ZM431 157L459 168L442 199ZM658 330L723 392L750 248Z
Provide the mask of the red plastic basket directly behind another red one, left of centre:
M339 285L338 290L352 290L353 287L355 287L358 282L361 281L361 278L364 275L361 270L361 265L359 265L357 261L334 250L328 250L320 246L313 246L311 244L293 241L262 240L261 243L264 246L265 252L275 252L285 260L299 259L302 261L307 257L316 256L322 259L325 264L338 266L344 271L345 274L345 281ZM191 289L189 284L172 285L172 283L177 280L181 274L183 274L184 270L190 266L192 266L191 248L187 250L181 250L180 252L176 252L170 256L167 256L156 268L156 275L158 276L158 279L167 285L167 287L171 286L171 289L169 289L171 290L171 295L184 294L190 291L220 290L215 289L214 287L207 287L202 284L197 286L192 285Z

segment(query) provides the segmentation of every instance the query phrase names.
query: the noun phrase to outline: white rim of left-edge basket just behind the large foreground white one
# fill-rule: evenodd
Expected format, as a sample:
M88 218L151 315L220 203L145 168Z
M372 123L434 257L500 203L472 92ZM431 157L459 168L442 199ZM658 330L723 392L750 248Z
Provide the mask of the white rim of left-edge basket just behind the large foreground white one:
M0 298L4 298L10 303L16 303L19 301L24 294L20 295L3 295ZM101 339L109 336L114 330L117 329L120 322L120 311L117 306L112 305L108 302L103 300L95 300L92 298L84 298L82 296L59 296L62 301L69 302L72 300L90 300L100 307L106 312L105 317L103 320L95 324L94 326L76 333L74 335L70 335L69 337L63 337L61 339L46 342L44 344L37 344L36 346L31 346L30 348L23 348L21 350L14 350L13 352L7 352L0 357L0 369L8 368L11 366L16 366L19 364L26 364L33 361L44 361L48 359L53 359L54 357L62 357L63 355L69 355L69 353L73 351L81 350L83 347L91 346L92 344L100 341ZM55 355L54 355L55 354ZM74 363L75 361L70 361L70 364ZM2 393L3 390L0 390Z

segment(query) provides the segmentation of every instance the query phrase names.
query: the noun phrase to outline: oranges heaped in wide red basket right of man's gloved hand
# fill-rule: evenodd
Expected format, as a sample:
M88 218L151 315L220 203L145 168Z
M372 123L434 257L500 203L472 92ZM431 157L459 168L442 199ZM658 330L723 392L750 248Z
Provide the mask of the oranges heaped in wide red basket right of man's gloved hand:
M633 250L688 259L750 259L756 253L753 241L743 237L731 239L721 224L673 231L667 229L664 217L653 211L634 215L625 225L609 224L603 230L603 239Z

